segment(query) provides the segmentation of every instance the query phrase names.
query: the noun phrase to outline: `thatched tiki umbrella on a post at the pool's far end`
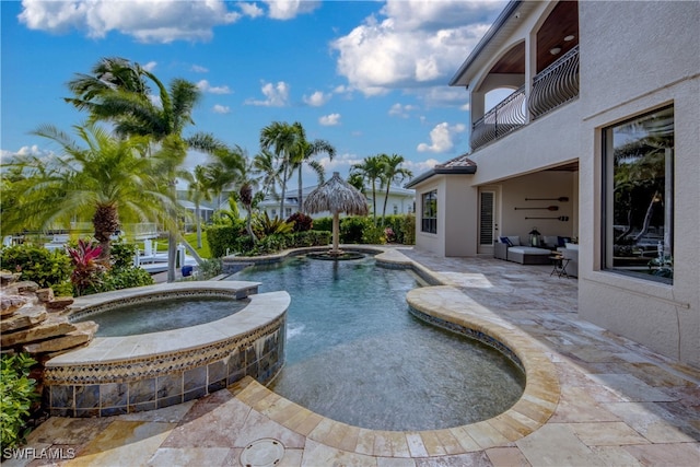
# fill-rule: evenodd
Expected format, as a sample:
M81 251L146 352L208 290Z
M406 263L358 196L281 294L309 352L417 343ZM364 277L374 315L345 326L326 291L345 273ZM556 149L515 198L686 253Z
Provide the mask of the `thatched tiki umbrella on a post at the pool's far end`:
M318 188L313 190L304 200L304 211L316 212L330 211L332 213L332 249L331 255L341 255L338 248L340 232L340 213L366 215L368 201L355 187L340 178L337 172L332 177Z

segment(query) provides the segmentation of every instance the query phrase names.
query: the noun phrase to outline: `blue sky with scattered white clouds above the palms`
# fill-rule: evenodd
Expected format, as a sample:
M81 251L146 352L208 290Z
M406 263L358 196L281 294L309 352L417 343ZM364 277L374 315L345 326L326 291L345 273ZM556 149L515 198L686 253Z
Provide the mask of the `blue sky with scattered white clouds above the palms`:
M249 155L300 121L337 151L327 175L377 153L418 175L468 150L467 92L447 82L504 1L1 1L2 160L55 148L30 131L84 121L66 83L102 57L198 83L195 127ZM186 165L206 163L192 153ZM295 180L290 182L290 187ZM311 175L304 185L313 185Z

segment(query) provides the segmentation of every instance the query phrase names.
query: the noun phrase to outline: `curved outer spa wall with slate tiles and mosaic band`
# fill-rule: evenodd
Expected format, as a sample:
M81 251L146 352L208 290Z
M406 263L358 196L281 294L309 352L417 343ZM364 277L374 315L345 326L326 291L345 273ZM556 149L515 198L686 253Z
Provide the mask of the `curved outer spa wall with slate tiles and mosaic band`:
M285 315L269 325L201 349L141 361L71 365L46 374L51 416L107 417L200 398L244 376L270 382L284 363ZM126 376L124 373L130 373Z

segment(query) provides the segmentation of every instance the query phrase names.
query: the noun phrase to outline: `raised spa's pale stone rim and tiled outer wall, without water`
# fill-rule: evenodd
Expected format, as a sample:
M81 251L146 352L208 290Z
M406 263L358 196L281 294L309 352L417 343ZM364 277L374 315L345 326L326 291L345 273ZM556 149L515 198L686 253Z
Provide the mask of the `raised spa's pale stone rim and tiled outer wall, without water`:
M44 405L52 416L103 417L153 410L202 397L246 375L265 384L284 363L287 292L257 294L257 282L192 281L79 297L69 313L163 299L249 300L210 323L160 332L97 337L46 362ZM233 313L233 312L232 312Z

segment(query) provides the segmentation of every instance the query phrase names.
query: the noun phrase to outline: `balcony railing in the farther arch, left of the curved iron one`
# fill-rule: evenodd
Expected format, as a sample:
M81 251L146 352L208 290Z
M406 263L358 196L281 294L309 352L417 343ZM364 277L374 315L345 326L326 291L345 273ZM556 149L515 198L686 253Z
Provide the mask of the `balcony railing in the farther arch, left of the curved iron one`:
M526 122L525 86L523 85L472 125L469 141L471 150L502 138Z

